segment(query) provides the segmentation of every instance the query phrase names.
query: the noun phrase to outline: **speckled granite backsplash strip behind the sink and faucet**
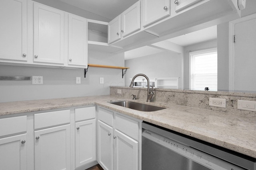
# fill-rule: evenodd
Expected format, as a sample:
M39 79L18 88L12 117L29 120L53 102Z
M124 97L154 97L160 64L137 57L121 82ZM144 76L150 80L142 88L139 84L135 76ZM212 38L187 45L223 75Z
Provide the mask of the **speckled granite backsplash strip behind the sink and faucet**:
M122 94L117 94L117 90L122 90ZM256 112L237 109L238 100L256 101L254 93L240 92L211 92L196 90L176 90L176 89L154 89L153 102L176 104L181 106L196 107L214 111L222 111L240 115L256 117ZM121 86L110 86L110 95L118 98L130 98L136 95L138 100L147 99L147 88L130 88ZM209 98L226 99L226 108L209 106Z

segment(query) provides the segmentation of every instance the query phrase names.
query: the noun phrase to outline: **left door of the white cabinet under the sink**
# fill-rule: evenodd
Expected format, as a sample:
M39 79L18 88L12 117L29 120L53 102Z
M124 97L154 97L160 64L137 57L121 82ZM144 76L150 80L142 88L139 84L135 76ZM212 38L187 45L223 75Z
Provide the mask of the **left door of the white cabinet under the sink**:
M98 162L104 170L113 170L113 127L98 121Z

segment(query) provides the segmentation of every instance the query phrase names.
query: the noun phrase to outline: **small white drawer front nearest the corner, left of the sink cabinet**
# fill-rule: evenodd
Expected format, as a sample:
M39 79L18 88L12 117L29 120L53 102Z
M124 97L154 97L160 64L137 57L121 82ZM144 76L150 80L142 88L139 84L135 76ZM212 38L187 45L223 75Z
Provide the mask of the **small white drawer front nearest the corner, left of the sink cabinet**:
M82 121L95 118L95 106L75 109L75 121Z

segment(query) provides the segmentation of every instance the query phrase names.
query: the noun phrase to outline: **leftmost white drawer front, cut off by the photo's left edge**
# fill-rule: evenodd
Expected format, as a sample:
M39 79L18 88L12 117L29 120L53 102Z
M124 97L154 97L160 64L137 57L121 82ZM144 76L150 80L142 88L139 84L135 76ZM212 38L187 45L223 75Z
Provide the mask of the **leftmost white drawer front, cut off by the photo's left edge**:
M8 117L0 119L0 137L27 131L27 116Z

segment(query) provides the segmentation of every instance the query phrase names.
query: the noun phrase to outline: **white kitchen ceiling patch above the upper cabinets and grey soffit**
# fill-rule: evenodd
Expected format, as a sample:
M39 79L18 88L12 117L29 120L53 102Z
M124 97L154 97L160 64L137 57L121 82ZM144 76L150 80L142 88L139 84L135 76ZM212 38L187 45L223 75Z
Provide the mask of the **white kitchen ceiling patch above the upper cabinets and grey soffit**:
M138 0L59 0L66 4L103 16L110 20L124 12Z

